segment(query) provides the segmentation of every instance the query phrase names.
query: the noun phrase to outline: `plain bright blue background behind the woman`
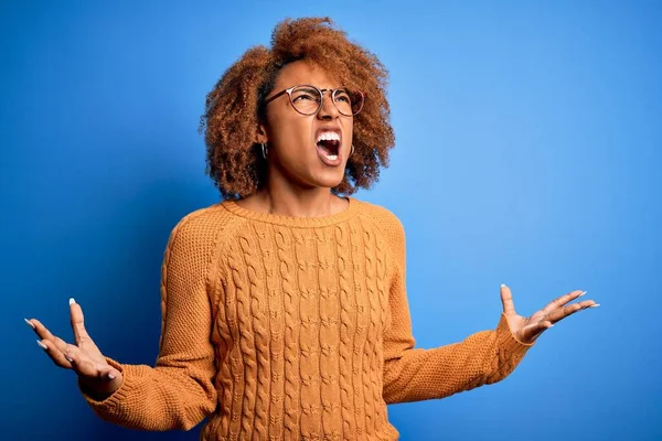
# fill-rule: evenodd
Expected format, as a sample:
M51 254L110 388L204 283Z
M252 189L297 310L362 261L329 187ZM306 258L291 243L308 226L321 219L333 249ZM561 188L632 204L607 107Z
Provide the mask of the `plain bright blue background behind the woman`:
M75 297L105 354L153 364L168 235L218 201L205 94L276 22L329 14L391 71L392 165L357 197L405 225L417 344L494 327L501 283L525 315L601 303L502 383L391 406L402 439L661 439L661 4L3 1L0 438L197 439L95 417L23 318L71 338Z

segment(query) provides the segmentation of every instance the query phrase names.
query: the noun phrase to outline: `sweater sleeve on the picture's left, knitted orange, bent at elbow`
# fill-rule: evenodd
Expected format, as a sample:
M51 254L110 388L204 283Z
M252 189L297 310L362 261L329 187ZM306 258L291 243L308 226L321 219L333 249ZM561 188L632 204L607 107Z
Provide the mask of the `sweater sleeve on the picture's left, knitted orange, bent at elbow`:
M215 409L212 312L206 290L211 240L201 236L189 228L186 218L170 235L161 272L162 322L156 367L108 358L124 380L103 401L78 384L103 419L131 429L189 430Z

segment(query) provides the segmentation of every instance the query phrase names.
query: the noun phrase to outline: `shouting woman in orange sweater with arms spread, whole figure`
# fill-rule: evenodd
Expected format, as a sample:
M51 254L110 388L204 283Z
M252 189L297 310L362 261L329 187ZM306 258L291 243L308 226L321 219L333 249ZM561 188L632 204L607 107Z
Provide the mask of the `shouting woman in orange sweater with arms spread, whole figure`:
M565 294L531 318L501 287L493 331L414 348L405 235L369 187L394 144L378 60L328 19L285 21L246 52L203 117L224 202L173 229L156 367L105 357L71 302L75 344L28 323L104 419L216 439L395 440L386 404L505 378L546 329L596 306ZM340 197L339 195L345 195Z

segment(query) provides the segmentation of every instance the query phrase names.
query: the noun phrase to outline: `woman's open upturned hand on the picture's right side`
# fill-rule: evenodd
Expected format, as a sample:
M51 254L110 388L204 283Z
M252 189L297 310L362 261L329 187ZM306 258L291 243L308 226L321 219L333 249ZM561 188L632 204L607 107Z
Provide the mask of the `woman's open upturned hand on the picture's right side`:
M586 294L586 291L568 292L552 301L542 310L536 311L530 318L525 318L515 312L513 295L510 288L505 284L501 286L501 302L503 303L503 313L508 320L508 325L510 326L513 336L525 344L535 342L543 332L554 326L554 323L562 321L575 312L587 308L599 306L599 304L592 300L567 304L584 294Z

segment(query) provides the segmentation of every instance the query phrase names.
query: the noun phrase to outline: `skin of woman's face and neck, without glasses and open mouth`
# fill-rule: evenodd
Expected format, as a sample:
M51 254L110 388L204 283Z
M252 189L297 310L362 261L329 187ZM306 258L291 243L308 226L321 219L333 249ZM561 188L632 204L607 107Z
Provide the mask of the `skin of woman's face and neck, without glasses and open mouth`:
M323 68L298 61L279 73L274 90L309 84L320 89L342 85ZM316 133L322 128L340 130L342 163L324 164L317 153ZM319 217L342 212L348 201L331 193L342 182L352 148L353 118L341 115L328 94L317 115L303 116L292 109L287 95L267 106L266 121L257 130L257 142L268 146L267 184L258 193L237 201L245 208L292 217Z

